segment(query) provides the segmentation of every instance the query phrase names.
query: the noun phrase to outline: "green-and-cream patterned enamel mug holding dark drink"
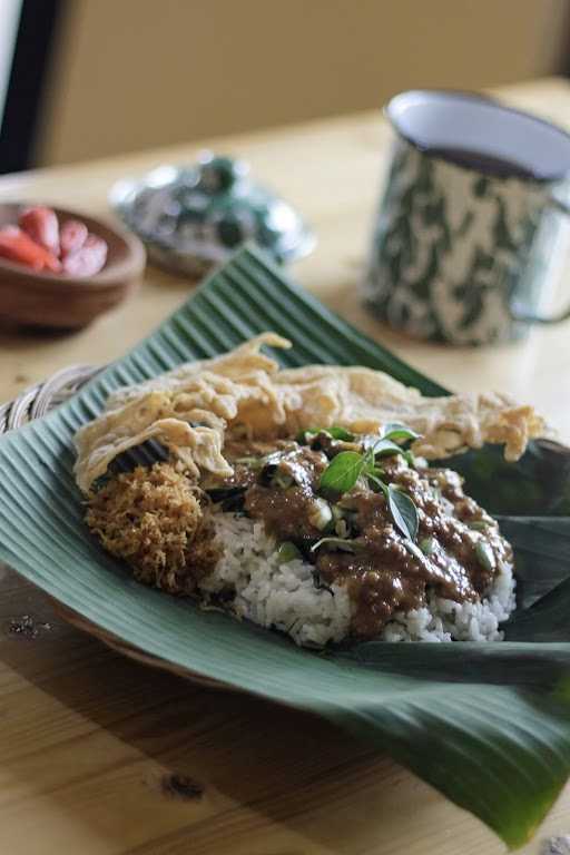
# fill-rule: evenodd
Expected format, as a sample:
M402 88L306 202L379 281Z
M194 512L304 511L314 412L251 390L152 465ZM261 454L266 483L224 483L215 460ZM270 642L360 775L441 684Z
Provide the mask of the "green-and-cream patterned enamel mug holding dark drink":
M542 313L570 213L570 135L452 91L403 92L386 114L396 140L365 281L374 312L466 345L570 317Z

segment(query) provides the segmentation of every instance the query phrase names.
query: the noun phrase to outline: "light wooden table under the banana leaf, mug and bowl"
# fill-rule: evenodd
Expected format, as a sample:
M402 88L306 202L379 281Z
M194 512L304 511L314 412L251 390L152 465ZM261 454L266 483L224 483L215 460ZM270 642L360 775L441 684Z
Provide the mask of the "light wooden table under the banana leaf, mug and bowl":
M570 85L501 90L570 127ZM375 112L213 140L296 203L318 247L294 275L362 330L451 387L491 384L570 438L570 327L522 345L456 352L377 326L358 305L389 129ZM111 183L197 147L30 173L0 197L105 213ZM0 401L78 362L119 356L190 292L150 268L141 292L83 332L0 333ZM407 772L316 719L197 688L126 660L62 623L0 568L1 855L495 855L502 844ZM31 620L23 620L30 616ZM570 833L570 787L535 842Z

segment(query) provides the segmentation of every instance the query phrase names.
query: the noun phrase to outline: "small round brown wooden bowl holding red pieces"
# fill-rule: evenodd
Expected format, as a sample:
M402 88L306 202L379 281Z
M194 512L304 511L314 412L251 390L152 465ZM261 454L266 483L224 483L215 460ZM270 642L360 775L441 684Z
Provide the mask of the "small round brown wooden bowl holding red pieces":
M16 224L21 210L29 206L30 203L0 205L0 227ZM76 210L50 207L60 224L66 219L80 219L89 232L107 242L105 267L95 276L81 278L37 273L0 258L0 321L73 330L86 326L135 291L145 268L145 248L138 237L120 227Z

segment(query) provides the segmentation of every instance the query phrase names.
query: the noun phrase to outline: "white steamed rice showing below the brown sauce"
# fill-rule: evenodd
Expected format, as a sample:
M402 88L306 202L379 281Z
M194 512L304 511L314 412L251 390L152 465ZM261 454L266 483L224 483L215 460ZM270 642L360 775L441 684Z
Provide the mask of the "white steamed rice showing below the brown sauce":
M239 618L287 632L297 645L323 647L348 636L353 603L347 590L315 588L313 566L277 561L276 542L262 522L233 513L214 517L223 556L200 583L208 596L234 591L229 608ZM481 602L428 598L424 608L396 612L379 636L384 641L500 641L499 623L514 608L512 568L503 566Z

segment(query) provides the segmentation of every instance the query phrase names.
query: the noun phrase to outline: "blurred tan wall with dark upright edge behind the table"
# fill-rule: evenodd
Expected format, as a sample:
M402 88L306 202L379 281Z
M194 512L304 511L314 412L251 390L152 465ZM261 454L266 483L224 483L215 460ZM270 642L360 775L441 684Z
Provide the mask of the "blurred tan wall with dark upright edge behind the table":
M0 0L0 173L570 71L568 0Z

